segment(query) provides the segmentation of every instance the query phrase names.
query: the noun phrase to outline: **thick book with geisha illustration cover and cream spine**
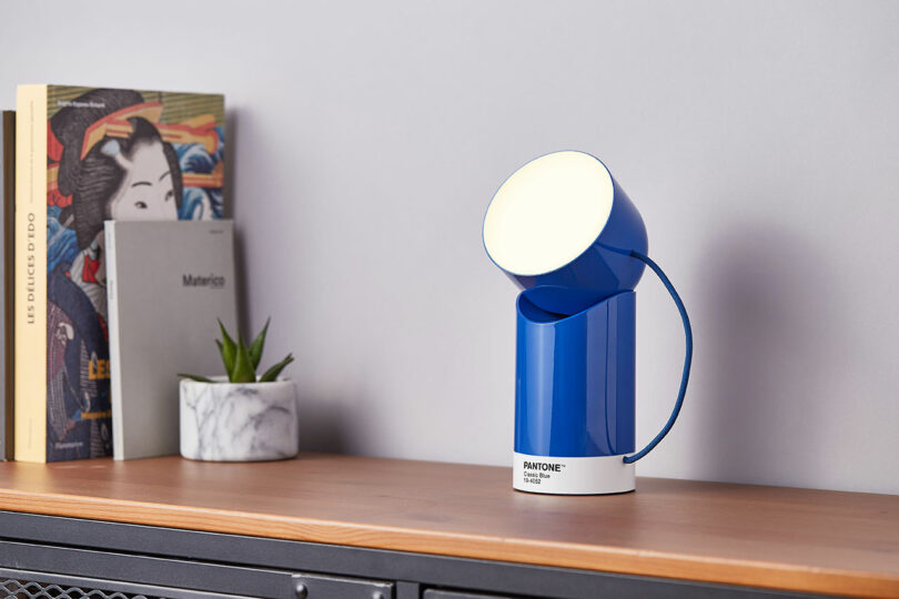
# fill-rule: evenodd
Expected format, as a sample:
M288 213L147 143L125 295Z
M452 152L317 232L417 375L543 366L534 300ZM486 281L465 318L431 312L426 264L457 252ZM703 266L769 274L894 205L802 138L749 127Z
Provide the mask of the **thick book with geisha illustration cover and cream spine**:
M20 85L14 450L112 454L105 220L218 220L224 99Z

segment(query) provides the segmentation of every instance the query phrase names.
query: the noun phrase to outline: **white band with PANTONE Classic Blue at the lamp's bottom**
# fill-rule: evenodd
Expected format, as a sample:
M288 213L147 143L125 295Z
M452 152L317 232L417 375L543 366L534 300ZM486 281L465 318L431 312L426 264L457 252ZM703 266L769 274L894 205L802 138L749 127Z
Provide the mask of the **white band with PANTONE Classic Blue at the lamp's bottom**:
M515 454L513 488L552 495L605 495L636 488L624 456L546 457Z

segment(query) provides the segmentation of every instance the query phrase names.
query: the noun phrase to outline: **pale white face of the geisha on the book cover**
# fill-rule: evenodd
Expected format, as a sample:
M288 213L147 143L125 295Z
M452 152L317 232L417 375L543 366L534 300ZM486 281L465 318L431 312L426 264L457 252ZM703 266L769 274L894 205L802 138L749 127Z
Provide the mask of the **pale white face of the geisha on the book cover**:
M138 143L124 156L117 140L108 141L103 153L121 166L123 177L108 203L107 216L127 221L178 219L174 176L160 141Z

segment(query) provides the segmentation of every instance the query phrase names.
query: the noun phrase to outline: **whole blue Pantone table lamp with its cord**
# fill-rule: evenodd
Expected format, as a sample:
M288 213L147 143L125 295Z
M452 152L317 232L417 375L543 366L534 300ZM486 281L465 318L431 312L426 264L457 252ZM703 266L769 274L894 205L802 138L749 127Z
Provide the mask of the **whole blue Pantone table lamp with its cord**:
M484 247L523 290L513 487L559 495L634 490L634 463L677 419L693 356L686 309L646 255L637 209L599 160L554 152L515 171L493 196ZM635 454L634 287L645 266L680 312L687 352L668 423Z

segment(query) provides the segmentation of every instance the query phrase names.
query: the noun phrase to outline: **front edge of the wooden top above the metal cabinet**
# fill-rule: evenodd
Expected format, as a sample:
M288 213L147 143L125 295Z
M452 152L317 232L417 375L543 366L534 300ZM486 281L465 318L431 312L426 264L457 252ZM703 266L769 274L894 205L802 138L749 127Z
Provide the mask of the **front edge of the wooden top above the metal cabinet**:
M208 532L345 545L451 557L509 561L623 575L764 587L825 595L899 597L899 577L881 572L810 568L616 547L497 538L193 508L120 499L0 490L9 511L103 520Z

